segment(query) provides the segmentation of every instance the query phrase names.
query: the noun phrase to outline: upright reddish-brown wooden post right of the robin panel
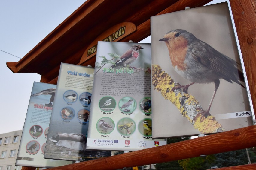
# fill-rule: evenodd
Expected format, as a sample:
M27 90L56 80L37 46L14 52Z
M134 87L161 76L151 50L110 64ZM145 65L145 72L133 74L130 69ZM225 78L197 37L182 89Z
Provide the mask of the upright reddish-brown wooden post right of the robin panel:
M230 0L230 5L256 111L256 0Z

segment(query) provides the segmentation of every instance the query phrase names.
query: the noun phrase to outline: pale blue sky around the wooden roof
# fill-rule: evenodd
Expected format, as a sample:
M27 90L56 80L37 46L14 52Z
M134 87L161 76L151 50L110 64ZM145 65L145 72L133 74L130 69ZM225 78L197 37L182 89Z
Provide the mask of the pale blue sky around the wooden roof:
M211 4L222 1L213 0ZM84 2L0 1L0 134L23 129L33 82L41 79L36 73L14 74L6 62L18 62ZM150 37L142 42L150 43Z

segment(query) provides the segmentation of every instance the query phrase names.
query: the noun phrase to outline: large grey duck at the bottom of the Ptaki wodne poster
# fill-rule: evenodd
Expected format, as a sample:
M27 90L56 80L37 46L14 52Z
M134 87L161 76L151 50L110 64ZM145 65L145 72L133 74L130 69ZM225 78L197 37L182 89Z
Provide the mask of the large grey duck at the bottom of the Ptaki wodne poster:
M74 150L84 151L86 148L86 135L76 133L59 133L49 139L56 146L61 146Z

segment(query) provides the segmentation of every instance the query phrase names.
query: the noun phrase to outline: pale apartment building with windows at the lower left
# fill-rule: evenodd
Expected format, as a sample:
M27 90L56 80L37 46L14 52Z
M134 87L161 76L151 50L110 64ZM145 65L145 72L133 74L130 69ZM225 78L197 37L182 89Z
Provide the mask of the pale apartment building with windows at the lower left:
M15 166L22 130L0 134L0 170L20 170Z

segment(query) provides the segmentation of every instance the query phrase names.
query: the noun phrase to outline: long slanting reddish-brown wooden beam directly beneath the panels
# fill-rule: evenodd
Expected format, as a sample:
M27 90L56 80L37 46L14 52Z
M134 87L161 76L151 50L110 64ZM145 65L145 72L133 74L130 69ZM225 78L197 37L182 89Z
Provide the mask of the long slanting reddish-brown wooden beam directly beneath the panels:
M123 167L134 167L181 160L191 157L199 157L203 154L217 154L251 148L254 146L256 146L256 125L164 146L157 146L111 157L50 168L50 170L67 170L74 168L76 170L102 168L105 170L122 169Z

